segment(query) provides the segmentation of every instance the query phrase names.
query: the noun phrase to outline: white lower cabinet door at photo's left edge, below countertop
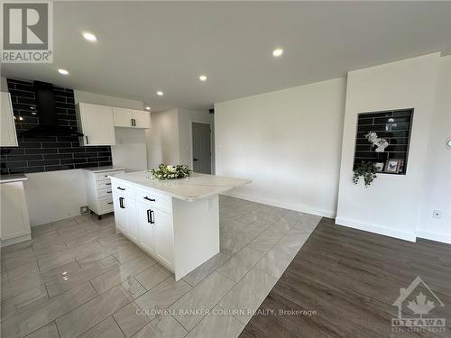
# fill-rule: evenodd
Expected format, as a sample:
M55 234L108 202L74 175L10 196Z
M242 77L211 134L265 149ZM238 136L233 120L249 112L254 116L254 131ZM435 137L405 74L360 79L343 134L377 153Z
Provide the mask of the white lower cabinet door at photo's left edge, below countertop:
M2 240L31 233L23 183L2 183L0 190L2 207L0 237Z

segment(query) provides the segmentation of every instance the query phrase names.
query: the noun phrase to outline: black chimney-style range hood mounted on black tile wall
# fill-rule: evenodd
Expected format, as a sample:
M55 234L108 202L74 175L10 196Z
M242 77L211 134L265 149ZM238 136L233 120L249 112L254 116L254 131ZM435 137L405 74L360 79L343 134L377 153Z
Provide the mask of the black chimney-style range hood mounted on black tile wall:
M83 136L77 127L59 125L53 98L53 85L47 82L34 81L39 125L22 132L22 136Z

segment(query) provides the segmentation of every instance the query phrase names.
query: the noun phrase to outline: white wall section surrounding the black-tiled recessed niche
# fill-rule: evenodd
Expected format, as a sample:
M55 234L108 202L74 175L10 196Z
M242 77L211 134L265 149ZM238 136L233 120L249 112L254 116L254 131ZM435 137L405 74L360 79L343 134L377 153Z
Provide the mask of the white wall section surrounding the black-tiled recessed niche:
M348 73L336 223L415 241L434 108L439 54ZM406 175L378 175L354 185L357 114L414 108Z

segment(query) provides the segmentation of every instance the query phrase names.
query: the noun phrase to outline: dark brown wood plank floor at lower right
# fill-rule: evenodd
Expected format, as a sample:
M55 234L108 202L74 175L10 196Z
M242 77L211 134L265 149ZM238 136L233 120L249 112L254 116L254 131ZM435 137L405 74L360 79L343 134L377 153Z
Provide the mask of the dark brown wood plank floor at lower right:
M419 291L434 300L427 317L445 318L443 332L392 332L400 288L419 276ZM407 302L406 302L407 303ZM420 302L419 302L420 303ZM451 245L396 240L334 226L323 218L265 298L241 337L451 337ZM407 306L403 317L415 315ZM280 311L316 315L280 315ZM406 329L406 328L404 328Z

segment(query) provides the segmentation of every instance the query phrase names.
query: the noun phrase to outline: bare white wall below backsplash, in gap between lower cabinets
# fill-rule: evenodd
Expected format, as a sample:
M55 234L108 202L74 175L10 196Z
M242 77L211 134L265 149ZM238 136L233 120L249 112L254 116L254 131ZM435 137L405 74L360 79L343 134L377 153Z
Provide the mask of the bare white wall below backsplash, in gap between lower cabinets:
M32 226L80 215L87 205L85 173L82 169L26 174L25 197Z

